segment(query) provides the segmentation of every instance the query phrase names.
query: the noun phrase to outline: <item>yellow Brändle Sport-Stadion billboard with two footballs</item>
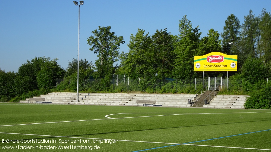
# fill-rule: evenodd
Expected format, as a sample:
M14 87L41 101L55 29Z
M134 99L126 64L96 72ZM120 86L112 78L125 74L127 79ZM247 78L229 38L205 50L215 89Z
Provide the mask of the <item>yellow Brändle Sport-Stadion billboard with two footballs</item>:
M237 71L237 55L212 52L195 56L194 71Z

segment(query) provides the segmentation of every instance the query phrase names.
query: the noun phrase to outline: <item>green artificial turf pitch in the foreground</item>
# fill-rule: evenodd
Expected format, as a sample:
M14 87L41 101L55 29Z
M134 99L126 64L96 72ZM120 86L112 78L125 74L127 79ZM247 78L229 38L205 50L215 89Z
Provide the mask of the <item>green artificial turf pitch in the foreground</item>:
M0 151L265 151L270 129L270 110L0 103Z

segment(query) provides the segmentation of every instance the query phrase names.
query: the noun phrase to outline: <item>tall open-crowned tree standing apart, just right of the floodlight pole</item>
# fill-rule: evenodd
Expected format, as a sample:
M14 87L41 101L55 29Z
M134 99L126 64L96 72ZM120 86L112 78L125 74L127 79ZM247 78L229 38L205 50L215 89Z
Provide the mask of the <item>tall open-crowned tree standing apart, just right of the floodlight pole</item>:
M116 36L115 32L110 31L111 26L101 27L92 31L94 36L88 38L90 51L97 53L98 60L95 61L96 78L111 78L116 67L114 63L119 59L119 51L121 44L124 44L123 36Z

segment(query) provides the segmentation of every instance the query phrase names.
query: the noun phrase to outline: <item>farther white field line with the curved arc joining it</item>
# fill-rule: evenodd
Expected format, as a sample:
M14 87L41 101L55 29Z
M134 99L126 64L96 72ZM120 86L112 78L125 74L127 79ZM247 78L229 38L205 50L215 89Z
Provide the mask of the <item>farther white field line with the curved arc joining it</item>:
M266 113L266 112L238 112L238 113ZM116 114L130 114L130 113L116 113ZM116 115L110 114L110 115ZM167 114L167 115L154 115L154 116L170 116L170 115L195 115L195 114L231 114L231 113L179 113L179 114ZM57 121L57 122L45 122L45 123L27 123L27 124L15 124L15 125L3 125L4 126L21 126L21 125L36 125L36 124L46 124L46 123L67 123L67 122L78 122L78 121L91 121L91 120L106 120L106 119L125 119L125 118L140 118L140 117L153 117L153 116L135 116L135 117L121 117L121 118L110 118L106 115L104 119L88 119L88 120L71 120L71 121Z

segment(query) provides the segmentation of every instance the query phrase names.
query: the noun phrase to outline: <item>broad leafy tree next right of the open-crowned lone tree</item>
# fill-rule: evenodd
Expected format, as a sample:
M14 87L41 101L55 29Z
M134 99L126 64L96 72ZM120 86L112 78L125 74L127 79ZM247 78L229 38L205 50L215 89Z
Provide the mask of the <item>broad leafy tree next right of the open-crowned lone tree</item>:
M124 67L124 74L132 78L155 76L153 41L149 33L138 29L136 35L131 34L128 44L129 52L121 54L121 67Z

